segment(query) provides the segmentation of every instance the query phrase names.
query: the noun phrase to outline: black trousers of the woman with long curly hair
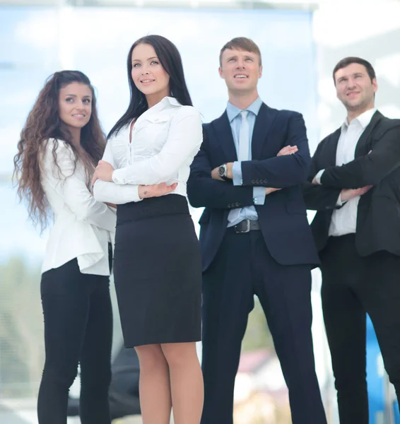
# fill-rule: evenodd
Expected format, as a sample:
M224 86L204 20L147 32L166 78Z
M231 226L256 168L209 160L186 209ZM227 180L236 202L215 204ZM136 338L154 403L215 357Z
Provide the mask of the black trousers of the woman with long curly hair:
M81 364L82 424L110 424L112 307L107 276L83 274L76 259L42 274L45 368L39 424L66 424L69 387Z

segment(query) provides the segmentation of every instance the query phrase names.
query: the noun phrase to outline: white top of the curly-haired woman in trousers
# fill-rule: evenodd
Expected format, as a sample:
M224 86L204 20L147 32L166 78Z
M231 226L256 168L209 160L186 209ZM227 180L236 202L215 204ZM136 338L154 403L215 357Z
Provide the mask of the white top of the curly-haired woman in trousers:
M109 276L108 242L114 240L115 212L90 194L83 165L78 162L74 170L69 145L58 141L59 169L53 146L50 139L40 163L42 187L54 213L42 272L76 258L81 273Z

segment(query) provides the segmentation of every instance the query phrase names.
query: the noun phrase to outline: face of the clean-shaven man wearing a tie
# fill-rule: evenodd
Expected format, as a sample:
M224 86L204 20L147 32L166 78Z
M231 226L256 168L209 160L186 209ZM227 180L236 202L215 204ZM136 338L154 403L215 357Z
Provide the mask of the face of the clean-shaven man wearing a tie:
M246 50L226 49L221 57L219 73L230 93L252 93L257 90L262 73L259 55Z

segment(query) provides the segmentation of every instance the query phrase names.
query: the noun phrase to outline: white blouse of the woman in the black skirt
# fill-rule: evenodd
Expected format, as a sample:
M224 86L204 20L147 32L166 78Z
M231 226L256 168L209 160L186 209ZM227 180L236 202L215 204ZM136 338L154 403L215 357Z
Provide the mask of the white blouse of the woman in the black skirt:
M201 116L192 106L165 97L107 142L103 160L114 167L112 182L95 182L98 201L140 201L139 185L177 182L173 193L186 196L190 165L203 141Z

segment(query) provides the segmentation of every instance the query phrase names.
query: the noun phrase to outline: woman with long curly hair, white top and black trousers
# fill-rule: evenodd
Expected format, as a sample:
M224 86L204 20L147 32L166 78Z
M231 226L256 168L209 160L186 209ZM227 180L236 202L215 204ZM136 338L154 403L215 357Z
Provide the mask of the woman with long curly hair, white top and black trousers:
M81 364L81 422L110 424L110 242L115 213L90 194L105 136L93 87L79 71L54 73L40 91L14 158L18 194L33 223L54 224L42 266L45 368L40 424L65 424Z

